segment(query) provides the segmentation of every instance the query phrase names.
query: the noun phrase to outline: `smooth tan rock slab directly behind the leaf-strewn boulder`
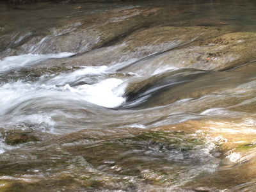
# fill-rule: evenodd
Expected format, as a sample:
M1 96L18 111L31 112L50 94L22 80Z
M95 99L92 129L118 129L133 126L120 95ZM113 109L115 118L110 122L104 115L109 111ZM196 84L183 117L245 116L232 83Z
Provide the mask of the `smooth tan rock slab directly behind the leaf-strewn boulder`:
M112 27L107 25L109 29ZM152 26L140 29L127 35L117 44L95 49L85 54L61 60L49 60L44 65L67 65L67 66L99 66L113 65L120 63L116 70L132 66L131 72L140 74L141 68L136 67L138 61L147 57L154 58L157 54L175 49L181 45L194 41L201 41L205 38L228 33L230 29L218 30L212 27L173 27L173 26ZM110 32L109 32L110 33ZM136 64L135 66L132 64ZM40 65L39 65L40 66ZM140 66L140 65L139 65ZM152 69L161 67L155 63ZM134 69L133 69L134 68ZM128 68L130 70L130 68ZM126 71L128 71L128 69ZM136 70L136 71L135 71ZM144 68L146 72L149 68Z

